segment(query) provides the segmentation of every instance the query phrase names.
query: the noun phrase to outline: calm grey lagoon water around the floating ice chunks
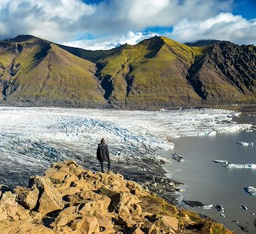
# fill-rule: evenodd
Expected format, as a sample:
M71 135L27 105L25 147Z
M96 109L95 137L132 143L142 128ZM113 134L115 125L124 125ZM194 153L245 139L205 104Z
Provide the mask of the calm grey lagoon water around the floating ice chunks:
M243 114L235 121L255 124L253 115L255 112ZM239 141L254 142L254 146L244 147L236 143ZM186 191L180 193L184 200L198 200L206 205L221 204L225 207L226 217L221 217L216 208L193 209L225 224L236 233L242 231L232 221L239 221L250 233L256 233L256 197L244 191L244 187L256 187L256 170L225 168L223 164L212 162L214 159L225 159L229 163L256 163L256 131L175 138L173 143L174 149L168 150L167 154L171 156L173 152L177 152L184 156L185 161L173 161L166 164L164 169L170 172L167 174L169 177L184 183L182 187ZM177 168L181 172L175 172ZM248 210L241 209L241 205L246 205Z

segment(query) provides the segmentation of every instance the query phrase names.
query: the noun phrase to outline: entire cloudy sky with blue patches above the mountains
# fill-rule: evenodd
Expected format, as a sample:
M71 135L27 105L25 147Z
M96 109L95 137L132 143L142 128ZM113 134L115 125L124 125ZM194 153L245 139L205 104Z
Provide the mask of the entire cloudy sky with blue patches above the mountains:
M89 50L156 35L256 45L256 0L0 0L0 40L19 34Z

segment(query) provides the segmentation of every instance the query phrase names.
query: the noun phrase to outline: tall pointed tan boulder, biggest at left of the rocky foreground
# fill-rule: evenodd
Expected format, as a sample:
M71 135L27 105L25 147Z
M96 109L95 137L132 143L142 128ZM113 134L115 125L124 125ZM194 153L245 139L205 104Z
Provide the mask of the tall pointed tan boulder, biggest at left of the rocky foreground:
M62 210L64 203L60 192L52 185L47 177L35 176L29 180L29 187L36 186L39 189L38 212L47 214L55 210Z

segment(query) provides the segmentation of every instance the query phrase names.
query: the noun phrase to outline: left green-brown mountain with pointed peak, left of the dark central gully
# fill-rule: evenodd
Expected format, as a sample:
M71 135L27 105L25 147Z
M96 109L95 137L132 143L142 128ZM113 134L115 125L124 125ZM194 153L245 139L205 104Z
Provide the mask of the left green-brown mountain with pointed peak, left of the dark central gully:
M3 44L2 100L28 105L104 105L92 62L33 36L19 36Z

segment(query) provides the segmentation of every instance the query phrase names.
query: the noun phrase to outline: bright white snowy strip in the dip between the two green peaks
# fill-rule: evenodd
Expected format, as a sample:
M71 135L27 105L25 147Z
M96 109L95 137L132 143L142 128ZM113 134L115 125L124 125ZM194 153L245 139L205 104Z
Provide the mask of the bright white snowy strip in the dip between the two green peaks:
M79 40L63 43L63 45L67 45L68 47L84 48L86 50L110 50L111 48L116 48L120 45L124 45L125 43L129 45L136 45L140 41L147 38L152 38L153 36L156 36L156 33L133 33L132 31L130 31L125 36L121 36L119 38L115 38L109 41L103 41L102 39Z

